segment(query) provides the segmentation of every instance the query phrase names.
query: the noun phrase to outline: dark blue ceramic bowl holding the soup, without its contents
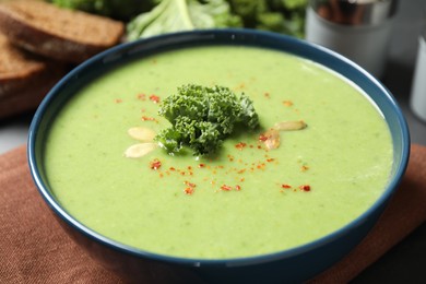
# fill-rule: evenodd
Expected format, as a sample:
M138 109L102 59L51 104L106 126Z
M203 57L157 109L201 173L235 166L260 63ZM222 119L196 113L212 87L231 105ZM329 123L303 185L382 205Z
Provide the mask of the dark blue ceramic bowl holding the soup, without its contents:
M260 46L323 64L357 84L377 104L393 139L393 168L382 196L343 228L310 244L275 253L225 260L182 259L150 253L108 239L85 227L56 200L44 175L46 130L58 109L97 74L141 56L197 45ZM222 29L170 34L123 44L82 63L61 80L38 108L29 129L28 162L34 181L63 228L106 268L140 283L298 283L324 271L350 252L383 212L407 165L410 135L404 117L389 91L346 58L316 45L273 33Z

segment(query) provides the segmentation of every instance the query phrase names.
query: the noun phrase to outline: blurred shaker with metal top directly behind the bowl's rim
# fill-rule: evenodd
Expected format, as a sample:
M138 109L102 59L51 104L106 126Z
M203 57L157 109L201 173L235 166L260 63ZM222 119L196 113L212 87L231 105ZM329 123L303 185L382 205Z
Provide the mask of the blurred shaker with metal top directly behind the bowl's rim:
M310 0L306 39L382 76L397 0Z

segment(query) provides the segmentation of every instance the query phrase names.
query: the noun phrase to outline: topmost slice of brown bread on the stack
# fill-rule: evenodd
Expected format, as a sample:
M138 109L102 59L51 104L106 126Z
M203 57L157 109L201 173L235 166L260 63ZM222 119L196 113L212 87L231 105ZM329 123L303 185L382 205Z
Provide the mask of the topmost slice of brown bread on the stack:
M32 52L80 63L119 43L125 25L43 1L17 0L0 4L0 32Z

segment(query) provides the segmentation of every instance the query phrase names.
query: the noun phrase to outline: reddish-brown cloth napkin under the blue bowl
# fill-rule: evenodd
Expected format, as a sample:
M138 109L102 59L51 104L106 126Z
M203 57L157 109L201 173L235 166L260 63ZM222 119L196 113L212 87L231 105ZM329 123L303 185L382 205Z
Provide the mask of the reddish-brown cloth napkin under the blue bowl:
M378 224L312 283L347 283L426 221L426 147L412 145L404 179ZM0 156L0 283L123 283L62 232L29 175L25 146Z

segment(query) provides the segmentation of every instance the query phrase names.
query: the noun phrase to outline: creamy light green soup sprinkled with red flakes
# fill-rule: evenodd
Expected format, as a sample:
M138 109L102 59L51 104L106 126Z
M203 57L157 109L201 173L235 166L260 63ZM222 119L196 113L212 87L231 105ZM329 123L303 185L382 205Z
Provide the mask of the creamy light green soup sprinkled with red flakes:
M158 104L188 83L244 92L261 129L239 130L212 157L162 149L125 157L139 143L127 131L168 127ZM281 132L280 147L265 150L261 131L287 120L308 127ZM56 198L87 227L146 251L203 259L323 237L378 199L392 166L387 123L354 84L284 52L230 46L162 52L94 80L58 114L44 153Z

